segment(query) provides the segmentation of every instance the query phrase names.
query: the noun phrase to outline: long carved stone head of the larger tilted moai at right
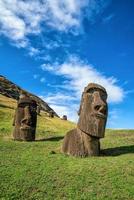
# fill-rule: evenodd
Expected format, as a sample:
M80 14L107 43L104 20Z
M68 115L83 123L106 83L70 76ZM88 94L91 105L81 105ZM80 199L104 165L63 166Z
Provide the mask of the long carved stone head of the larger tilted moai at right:
M102 86L90 83L85 88L79 110L79 129L94 137L104 137L108 113L106 100L107 93Z

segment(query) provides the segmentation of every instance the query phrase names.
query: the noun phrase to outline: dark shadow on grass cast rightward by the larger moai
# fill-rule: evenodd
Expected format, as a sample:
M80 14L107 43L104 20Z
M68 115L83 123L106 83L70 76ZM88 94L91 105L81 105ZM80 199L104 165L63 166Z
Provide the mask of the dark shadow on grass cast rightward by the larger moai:
M101 156L119 156L128 153L134 153L134 145L114 147L101 150Z

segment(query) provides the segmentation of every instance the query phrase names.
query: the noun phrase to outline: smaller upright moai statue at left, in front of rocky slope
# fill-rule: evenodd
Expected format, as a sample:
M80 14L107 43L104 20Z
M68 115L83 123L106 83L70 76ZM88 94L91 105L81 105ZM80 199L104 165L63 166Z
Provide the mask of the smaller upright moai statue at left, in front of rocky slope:
M14 140L22 141L34 141L37 122L37 103L26 93L22 92L15 116L13 125L15 126L13 131Z

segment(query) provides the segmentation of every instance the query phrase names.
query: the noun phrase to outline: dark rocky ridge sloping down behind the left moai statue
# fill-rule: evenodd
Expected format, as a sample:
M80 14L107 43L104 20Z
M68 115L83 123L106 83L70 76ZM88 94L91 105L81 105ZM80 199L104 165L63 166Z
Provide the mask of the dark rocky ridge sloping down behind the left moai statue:
M21 87L19 87L15 83L9 81L4 76L0 75L0 94L4 95L6 97L10 97L12 99L18 100L21 91L25 91L25 93L32 96L32 98L36 100L38 105L40 105L41 110L44 110L48 113L50 111L53 111L55 116L58 117L57 113L52 108L50 108L48 106L48 104L45 101L43 101L41 98L37 97L34 94L29 93L28 91L22 89Z

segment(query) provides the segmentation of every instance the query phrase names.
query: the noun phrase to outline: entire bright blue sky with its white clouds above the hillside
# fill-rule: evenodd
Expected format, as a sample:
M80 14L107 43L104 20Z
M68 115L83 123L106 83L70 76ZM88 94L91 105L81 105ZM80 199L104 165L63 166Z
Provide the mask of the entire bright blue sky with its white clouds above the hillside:
M0 74L77 121L83 88L108 92L109 128L134 128L133 0L0 0Z

